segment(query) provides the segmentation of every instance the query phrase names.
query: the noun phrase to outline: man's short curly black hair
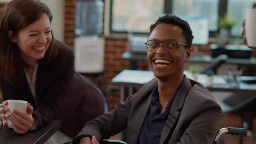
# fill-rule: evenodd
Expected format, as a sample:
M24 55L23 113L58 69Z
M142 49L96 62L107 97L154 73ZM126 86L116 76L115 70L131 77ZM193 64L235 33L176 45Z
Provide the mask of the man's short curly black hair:
M180 17L175 16L175 15L170 15L170 14L166 14L165 16L161 16L158 18L158 20L156 20L155 23L151 24L150 26L150 31L149 31L149 35L151 34L151 32L153 31L153 29L161 23L165 23L165 24L173 24L173 25L177 25L180 26L181 29L183 30L183 35L186 37L187 40L187 45L189 47L191 47L192 45L192 40L194 39L194 36L192 35L192 30L190 29L189 24L187 23L187 21L182 20Z

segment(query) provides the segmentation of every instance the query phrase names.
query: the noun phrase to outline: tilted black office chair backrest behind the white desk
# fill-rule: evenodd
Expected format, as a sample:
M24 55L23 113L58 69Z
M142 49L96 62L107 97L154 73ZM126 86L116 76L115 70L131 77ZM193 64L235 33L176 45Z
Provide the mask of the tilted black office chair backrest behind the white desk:
M228 56L225 54L217 56L215 59L213 59L213 62L211 62L210 65L208 65L207 68L203 69L200 73L205 74L208 70L213 70L214 74L216 74L219 66L226 62L227 59Z

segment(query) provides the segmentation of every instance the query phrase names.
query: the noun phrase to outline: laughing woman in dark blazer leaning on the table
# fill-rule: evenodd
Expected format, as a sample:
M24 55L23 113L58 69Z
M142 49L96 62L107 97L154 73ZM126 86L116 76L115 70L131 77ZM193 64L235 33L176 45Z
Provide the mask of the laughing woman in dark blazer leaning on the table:
M0 89L3 100L28 101L27 114L3 115L24 134L60 119L58 138L71 141L83 125L104 113L104 97L74 70L74 53L53 37L49 8L39 0L12 0L0 25ZM3 102L7 104L7 101ZM1 108L5 113L8 108ZM4 124L6 125L6 124Z

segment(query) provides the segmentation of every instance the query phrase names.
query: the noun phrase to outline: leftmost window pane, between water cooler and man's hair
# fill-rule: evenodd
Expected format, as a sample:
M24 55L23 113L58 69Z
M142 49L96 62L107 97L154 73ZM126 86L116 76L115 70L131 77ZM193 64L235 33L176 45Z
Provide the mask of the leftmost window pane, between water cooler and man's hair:
M112 0L111 32L149 32L149 26L164 13L164 0Z

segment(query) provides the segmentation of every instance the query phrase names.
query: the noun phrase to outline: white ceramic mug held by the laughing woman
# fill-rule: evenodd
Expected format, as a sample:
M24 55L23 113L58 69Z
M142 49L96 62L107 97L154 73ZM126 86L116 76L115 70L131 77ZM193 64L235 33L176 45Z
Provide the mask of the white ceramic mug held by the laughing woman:
M18 109L18 110L20 110L21 112L24 112L24 113L27 112L27 106L28 106L27 101L9 99L9 100L7 100L7 102L8 102L8 105L0 104L0 107L5 106L5 107L9 108L9 111L7 111L6 114L10 115L10 113L14 109ZM3 118L2 115L0 115L0 117L2 118L3 121L7 122L8 128L12 128L12 122L9 119Z

